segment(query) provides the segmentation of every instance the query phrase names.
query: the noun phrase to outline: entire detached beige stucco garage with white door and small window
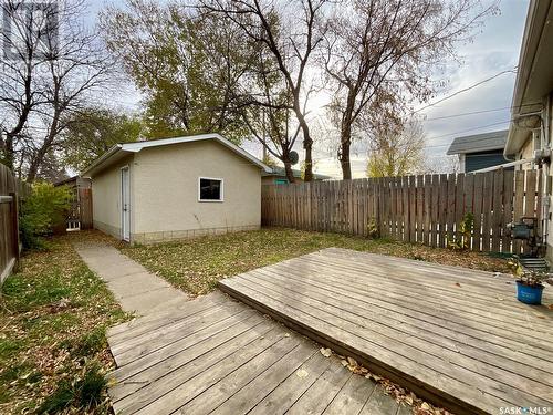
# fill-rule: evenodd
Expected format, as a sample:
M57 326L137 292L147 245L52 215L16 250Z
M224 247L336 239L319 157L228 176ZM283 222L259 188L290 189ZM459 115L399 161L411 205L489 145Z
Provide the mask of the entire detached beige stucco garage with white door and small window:
M117 144L92 178L94 227L129 242L258 229L259 159L218 134Z

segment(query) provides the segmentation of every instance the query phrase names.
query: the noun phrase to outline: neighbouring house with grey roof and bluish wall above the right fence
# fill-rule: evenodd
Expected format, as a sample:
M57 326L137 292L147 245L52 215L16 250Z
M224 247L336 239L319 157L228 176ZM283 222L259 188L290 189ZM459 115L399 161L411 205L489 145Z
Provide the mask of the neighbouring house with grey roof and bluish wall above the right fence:
M503 157L508 131L456 137L447 152L458 155L461 173L493 167L507 163Z

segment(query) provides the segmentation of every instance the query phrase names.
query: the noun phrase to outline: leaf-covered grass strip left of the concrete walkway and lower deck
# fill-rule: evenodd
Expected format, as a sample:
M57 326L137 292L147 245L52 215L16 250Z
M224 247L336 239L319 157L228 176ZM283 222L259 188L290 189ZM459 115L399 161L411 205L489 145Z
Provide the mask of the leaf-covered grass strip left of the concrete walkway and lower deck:
M0 299L0 413L108 413L105 331L126 318L67 237L24 256Z

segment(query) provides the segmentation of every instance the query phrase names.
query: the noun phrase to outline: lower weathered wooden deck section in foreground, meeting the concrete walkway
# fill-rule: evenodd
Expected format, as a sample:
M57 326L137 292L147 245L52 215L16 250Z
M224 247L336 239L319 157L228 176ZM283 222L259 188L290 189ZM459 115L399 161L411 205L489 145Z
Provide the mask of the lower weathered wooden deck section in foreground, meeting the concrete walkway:
M407 415L320 345L220 292L108 332L116 414Z

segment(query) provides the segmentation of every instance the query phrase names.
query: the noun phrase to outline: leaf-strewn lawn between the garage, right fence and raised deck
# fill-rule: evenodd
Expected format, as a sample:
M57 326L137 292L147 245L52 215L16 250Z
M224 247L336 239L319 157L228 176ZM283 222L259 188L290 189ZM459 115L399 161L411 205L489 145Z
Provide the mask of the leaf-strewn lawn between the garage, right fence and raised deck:
M509 272L504 260L478 252L457 252L383 239L281 228L209 236L155 246L118 247L123 253L192 295L213 290L221 278L328 247Z

